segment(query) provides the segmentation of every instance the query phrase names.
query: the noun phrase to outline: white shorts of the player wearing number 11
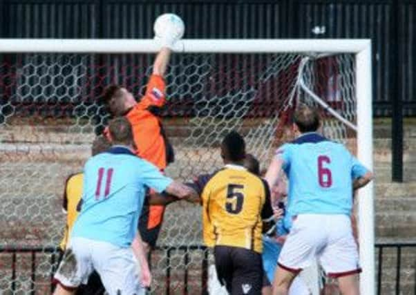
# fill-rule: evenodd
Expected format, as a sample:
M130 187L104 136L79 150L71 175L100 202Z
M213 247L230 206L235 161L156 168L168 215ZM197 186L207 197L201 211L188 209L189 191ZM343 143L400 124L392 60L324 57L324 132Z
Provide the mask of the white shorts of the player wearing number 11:
M65 289L75 289L87 283L94 269L109 295L145 294L131 247L86 238L71 238L54 280Z

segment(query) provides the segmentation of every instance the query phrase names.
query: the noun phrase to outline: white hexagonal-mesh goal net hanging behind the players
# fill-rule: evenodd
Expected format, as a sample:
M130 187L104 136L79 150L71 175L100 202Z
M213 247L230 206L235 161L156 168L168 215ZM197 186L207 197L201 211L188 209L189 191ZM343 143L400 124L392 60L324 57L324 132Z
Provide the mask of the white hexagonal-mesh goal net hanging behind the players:
M0 55L0 290L48 294L65 226L64 181L82 170L93 138L106 126L102 91L122 84L140 99L155 50L106 53L100 43L101 50L90 46L76 50L90 53L71 53L64 46L50 49L45 41L46 49L39 51L50 53L11 53L13 40L8 42L9 50L0 48L7 52ZM285 53L282 41L273 53L262 47L262 53L239 53L236 44L209 52L192 49L196 43L173 55L166 78L169 102L161 116L176 151L167 175L189 180L218 169L218 146L231 130L245 136L247 151L267 168L276 147L292 140L292 114L299 104L318 106L324 135L360 155L354 50ZM372 224L367 227L371 233ZM167 207L158 248L151 254L152 294L205 292L213 259L202 246L201 231L198 205ZM360 242L366 247L368 240ZM308 286L317 292L319 271L306 273Z

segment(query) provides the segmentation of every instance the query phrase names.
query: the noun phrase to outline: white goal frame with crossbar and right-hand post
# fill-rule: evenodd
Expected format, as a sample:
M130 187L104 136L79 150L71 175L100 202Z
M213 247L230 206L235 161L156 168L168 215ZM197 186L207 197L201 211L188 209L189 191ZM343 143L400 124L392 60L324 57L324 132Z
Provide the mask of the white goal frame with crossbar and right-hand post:
M355 62L357 157L372 170L372 57L370 39L184 39L180 53L349 53ZM152 39L0 39L3 53L156 53ZM329 110L330 111L330 110ZM359 252L363 295L375 294L374 184L359 190Z

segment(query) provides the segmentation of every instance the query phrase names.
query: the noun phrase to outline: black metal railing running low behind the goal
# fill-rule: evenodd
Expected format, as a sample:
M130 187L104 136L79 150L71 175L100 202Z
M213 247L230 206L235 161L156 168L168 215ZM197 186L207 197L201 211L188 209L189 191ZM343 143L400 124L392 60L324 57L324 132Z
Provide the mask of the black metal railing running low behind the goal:
M377 294L384 294L384 289L382 282L384 280L385 269L394 269L395 278L394 278L394 293L395 294L404 294L404 285L402 284L402 276L404 272L408 272L408 267L413 268L413 282L406 282L408 285L406 286L408 289L407 291L413 292L416 294L416 242L379 242L375 245L377 249ZM395 252L395 261L384 261L388 256L386 256L386 249L389 249L390 252ZM413 253L415 257L410 256L410 259L413 258L413 261L406 261L408 267L405 269L402 263L404 249L408 249L409 253ZM166 276L166 286L165 286L165 294L169 295L173 292L171 288L171 269L172 269L172 252L173 251L183 251L183 263L184 265L188 265L189 263L189 256L194 254L196 251L202 252L202 261L201 261L201 285L200 289L202 290L201 293L203 295L207 294L207 283L208 283L208 260L209 260L209 251L207 248L201 245L189 245L189 246L181 246L181 247L169 247L169 246L161 246L156 249L156 251L164 251L166 253L166 267L164 268L164 274ZM51 272L49 274L50 278L50 290L53 290L53 274L56 270L56 264L59 257L59 251L55 247L0 247L0 254L10 254L11 256L11 291L12 294L15 294L17 291L17 278L19 274L17 274L17 256L19 254L30 254L30 289L32 290L30 294L35 294L35 283L37 279L37 255L39 254L48 254L50 255L49 262L50 265L53 267L51 268ZM390 255L393 253L389 253ZM393 254L394 256L394 254ZM391 256L390 256L391 258ZM151 259L150 259L151 260ZM390 259L391 260L391 259ZM407 278L407 280L409 277ZM410 283L410 286L409 286ZM185 267L185 272L183 274L183 294L189 294L189 269ZM413 291L410 291L413 285ZM410 289L409 289L410 288ZM391 292L389 292L391 293ZM409 293L410 294L410 293Z

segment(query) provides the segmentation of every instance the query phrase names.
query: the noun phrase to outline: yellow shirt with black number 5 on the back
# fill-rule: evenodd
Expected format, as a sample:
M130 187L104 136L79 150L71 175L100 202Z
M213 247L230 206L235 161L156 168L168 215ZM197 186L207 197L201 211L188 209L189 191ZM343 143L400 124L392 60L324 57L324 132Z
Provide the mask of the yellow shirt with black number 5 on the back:
M264 180L243 166L226 165L207 180L201 198L203 236L208 247L242 247L261 253L262 215L272 215L270 191Z

